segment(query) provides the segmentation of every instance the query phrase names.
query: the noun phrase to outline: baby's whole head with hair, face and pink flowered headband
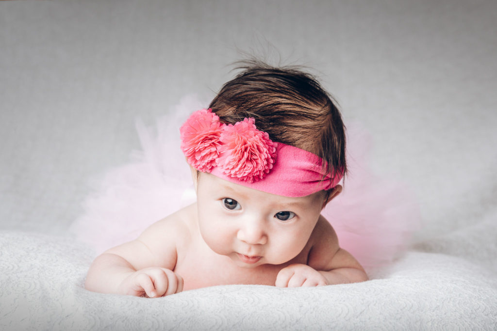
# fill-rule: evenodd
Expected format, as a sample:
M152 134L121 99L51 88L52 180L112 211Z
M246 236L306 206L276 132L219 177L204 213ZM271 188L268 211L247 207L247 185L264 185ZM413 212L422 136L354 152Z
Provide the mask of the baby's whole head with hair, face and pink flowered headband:
M346 172L331 97L294 67L250 62L181 127L202 238L241 266L297 257Z

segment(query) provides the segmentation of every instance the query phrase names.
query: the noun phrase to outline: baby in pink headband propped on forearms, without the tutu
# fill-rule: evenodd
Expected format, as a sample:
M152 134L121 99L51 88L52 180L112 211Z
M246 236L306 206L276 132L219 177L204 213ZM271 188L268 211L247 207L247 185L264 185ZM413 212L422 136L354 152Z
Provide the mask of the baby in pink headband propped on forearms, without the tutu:
M331 97L294 67L240 69L180 128L197 202L98 256L86 289L153 298L222 284L368 279L320 214L346 173Z

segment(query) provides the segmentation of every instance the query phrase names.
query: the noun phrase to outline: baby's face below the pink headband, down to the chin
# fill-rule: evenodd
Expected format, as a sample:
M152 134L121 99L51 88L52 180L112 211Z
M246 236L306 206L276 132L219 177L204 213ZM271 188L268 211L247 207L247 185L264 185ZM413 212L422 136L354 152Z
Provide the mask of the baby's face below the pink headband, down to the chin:
M324 199L323 192L302 198L276 196L201 173L200 233L214 252L239 266L283 264L304 249Z

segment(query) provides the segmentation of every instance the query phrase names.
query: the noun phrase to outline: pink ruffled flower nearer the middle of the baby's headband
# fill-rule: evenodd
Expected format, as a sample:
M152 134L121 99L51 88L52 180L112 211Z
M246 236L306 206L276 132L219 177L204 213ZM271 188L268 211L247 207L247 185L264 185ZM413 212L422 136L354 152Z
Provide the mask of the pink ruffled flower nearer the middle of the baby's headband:
M225 175L248 183L269 173L276 158L277 143L257 130L254 123L253 118L246 118L224 127L216 162Z

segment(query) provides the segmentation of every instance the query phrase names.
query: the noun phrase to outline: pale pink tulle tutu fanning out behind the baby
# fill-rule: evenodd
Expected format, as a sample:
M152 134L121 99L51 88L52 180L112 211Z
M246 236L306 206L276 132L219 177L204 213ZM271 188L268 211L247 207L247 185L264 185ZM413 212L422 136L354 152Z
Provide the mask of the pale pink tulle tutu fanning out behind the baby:
M195 201L188 164L179 148L179 127L203 106L186 97L157 122L156 132L137 125L142 150L110 170L84 201L84 213L71 226L77 239L96 253L133 240L149 225ZM409 191L375 176L367 166L370 139L347 124L349 175L344 191L323 210L340 247L366 269L387 265L403 252L419 212Z

